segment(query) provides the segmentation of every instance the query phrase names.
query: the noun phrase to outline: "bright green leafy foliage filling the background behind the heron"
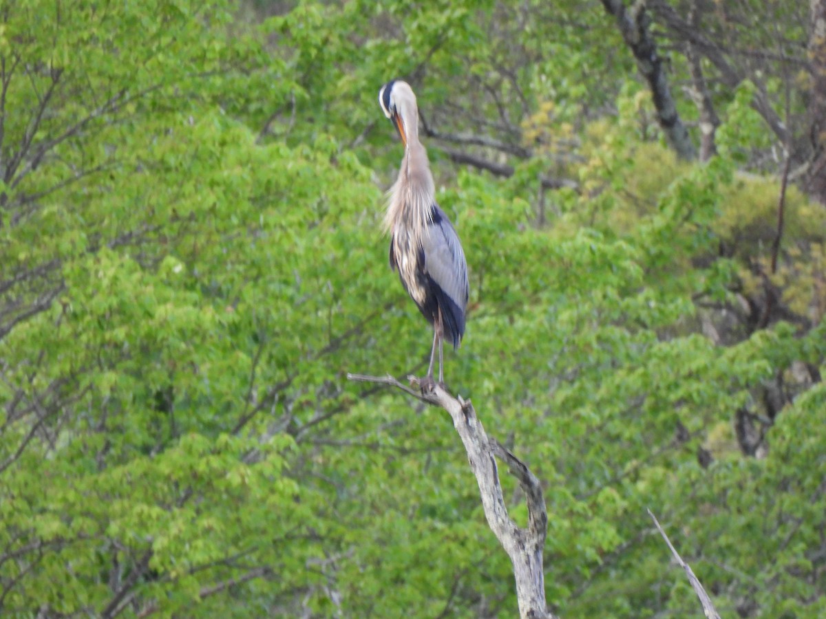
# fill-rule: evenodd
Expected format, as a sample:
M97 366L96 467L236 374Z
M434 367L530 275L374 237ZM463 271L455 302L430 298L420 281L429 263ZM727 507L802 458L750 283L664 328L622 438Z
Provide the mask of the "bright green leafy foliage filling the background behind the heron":
M725 616L824 612L824 211L790 189L769 273L750 87L720 156L680 163L600 7L558 5L297 2L260 27L225 2L8 7L4 614L513 615L449 420L345 379L427 362L380 233L401 147L375 101L421 67L427 120L501 115L529 151L504 181L430 154L471 267L446 376L543 480L548 600L696 612L652 508ZM537 226L551 172L577 190ZM786 322L726 327L763 274ZM760 459L743 412L771 412Z

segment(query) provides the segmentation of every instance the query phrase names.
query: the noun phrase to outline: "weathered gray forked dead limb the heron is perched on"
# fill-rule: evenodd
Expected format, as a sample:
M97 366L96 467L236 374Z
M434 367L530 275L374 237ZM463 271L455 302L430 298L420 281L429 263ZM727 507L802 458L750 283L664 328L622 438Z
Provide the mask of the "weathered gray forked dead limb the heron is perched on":
M548 512L539 480L527 465L514 456L495 438L490 438L477 418L470 400L454 397L444 388L421 393L402 384L393 376L364 376L348 374L349 380L379 383L401 389L428 404L434 404L450 413L465 451L468 452L473 475L479 484L482 507L487 524L505 548L513 565L516 580L516 598L519 602L520 617L523 619L553 619L545 601L545 581L543 570L543 549L548 529ZM418 386L415 376L409 376L411 385ZM508 515L508 508L499 482L496 457L505 463L525 493L528 505L528 527L520 528Z

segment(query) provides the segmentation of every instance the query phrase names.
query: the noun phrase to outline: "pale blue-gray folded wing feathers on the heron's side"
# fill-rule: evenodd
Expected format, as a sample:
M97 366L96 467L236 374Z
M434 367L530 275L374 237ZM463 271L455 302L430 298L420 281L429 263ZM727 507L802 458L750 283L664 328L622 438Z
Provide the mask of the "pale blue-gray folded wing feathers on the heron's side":
M435 205L434 210L436 216L428 224L421 242L425 250L425 272L464 313L469 286L462 243L444 211Z

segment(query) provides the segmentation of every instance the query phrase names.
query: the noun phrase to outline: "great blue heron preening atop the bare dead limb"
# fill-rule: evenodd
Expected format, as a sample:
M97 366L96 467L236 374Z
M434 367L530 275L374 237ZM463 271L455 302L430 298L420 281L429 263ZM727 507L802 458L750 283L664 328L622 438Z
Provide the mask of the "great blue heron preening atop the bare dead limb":
M422 390L434 386L433 364L439 347L439 385L444 385L442 344L458 348L468 305L468 265L462 243L434 198L427 151L419 141L419 110L410 84L393 80L378 91L378 103L392 120L405 146L401 169L390 190L385 228L390 232L390 267L433 325L430 366Z

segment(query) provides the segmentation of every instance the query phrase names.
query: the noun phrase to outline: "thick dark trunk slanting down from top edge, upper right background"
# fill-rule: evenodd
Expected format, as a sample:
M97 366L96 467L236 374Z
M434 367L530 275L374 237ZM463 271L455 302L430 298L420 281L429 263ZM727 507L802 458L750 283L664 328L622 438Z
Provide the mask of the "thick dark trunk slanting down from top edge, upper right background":
M684 159L694 159L697 150L691 142L686 125L677 114L671 88L668 87L662 58L657 54L657 45L651 35L651 18L645 10L644 2L635 2L628 10L623 0L601 0L609 15L615 17L622 37L634 54L637 69L651 88L657 120L665 131L668 142L676 153Z

